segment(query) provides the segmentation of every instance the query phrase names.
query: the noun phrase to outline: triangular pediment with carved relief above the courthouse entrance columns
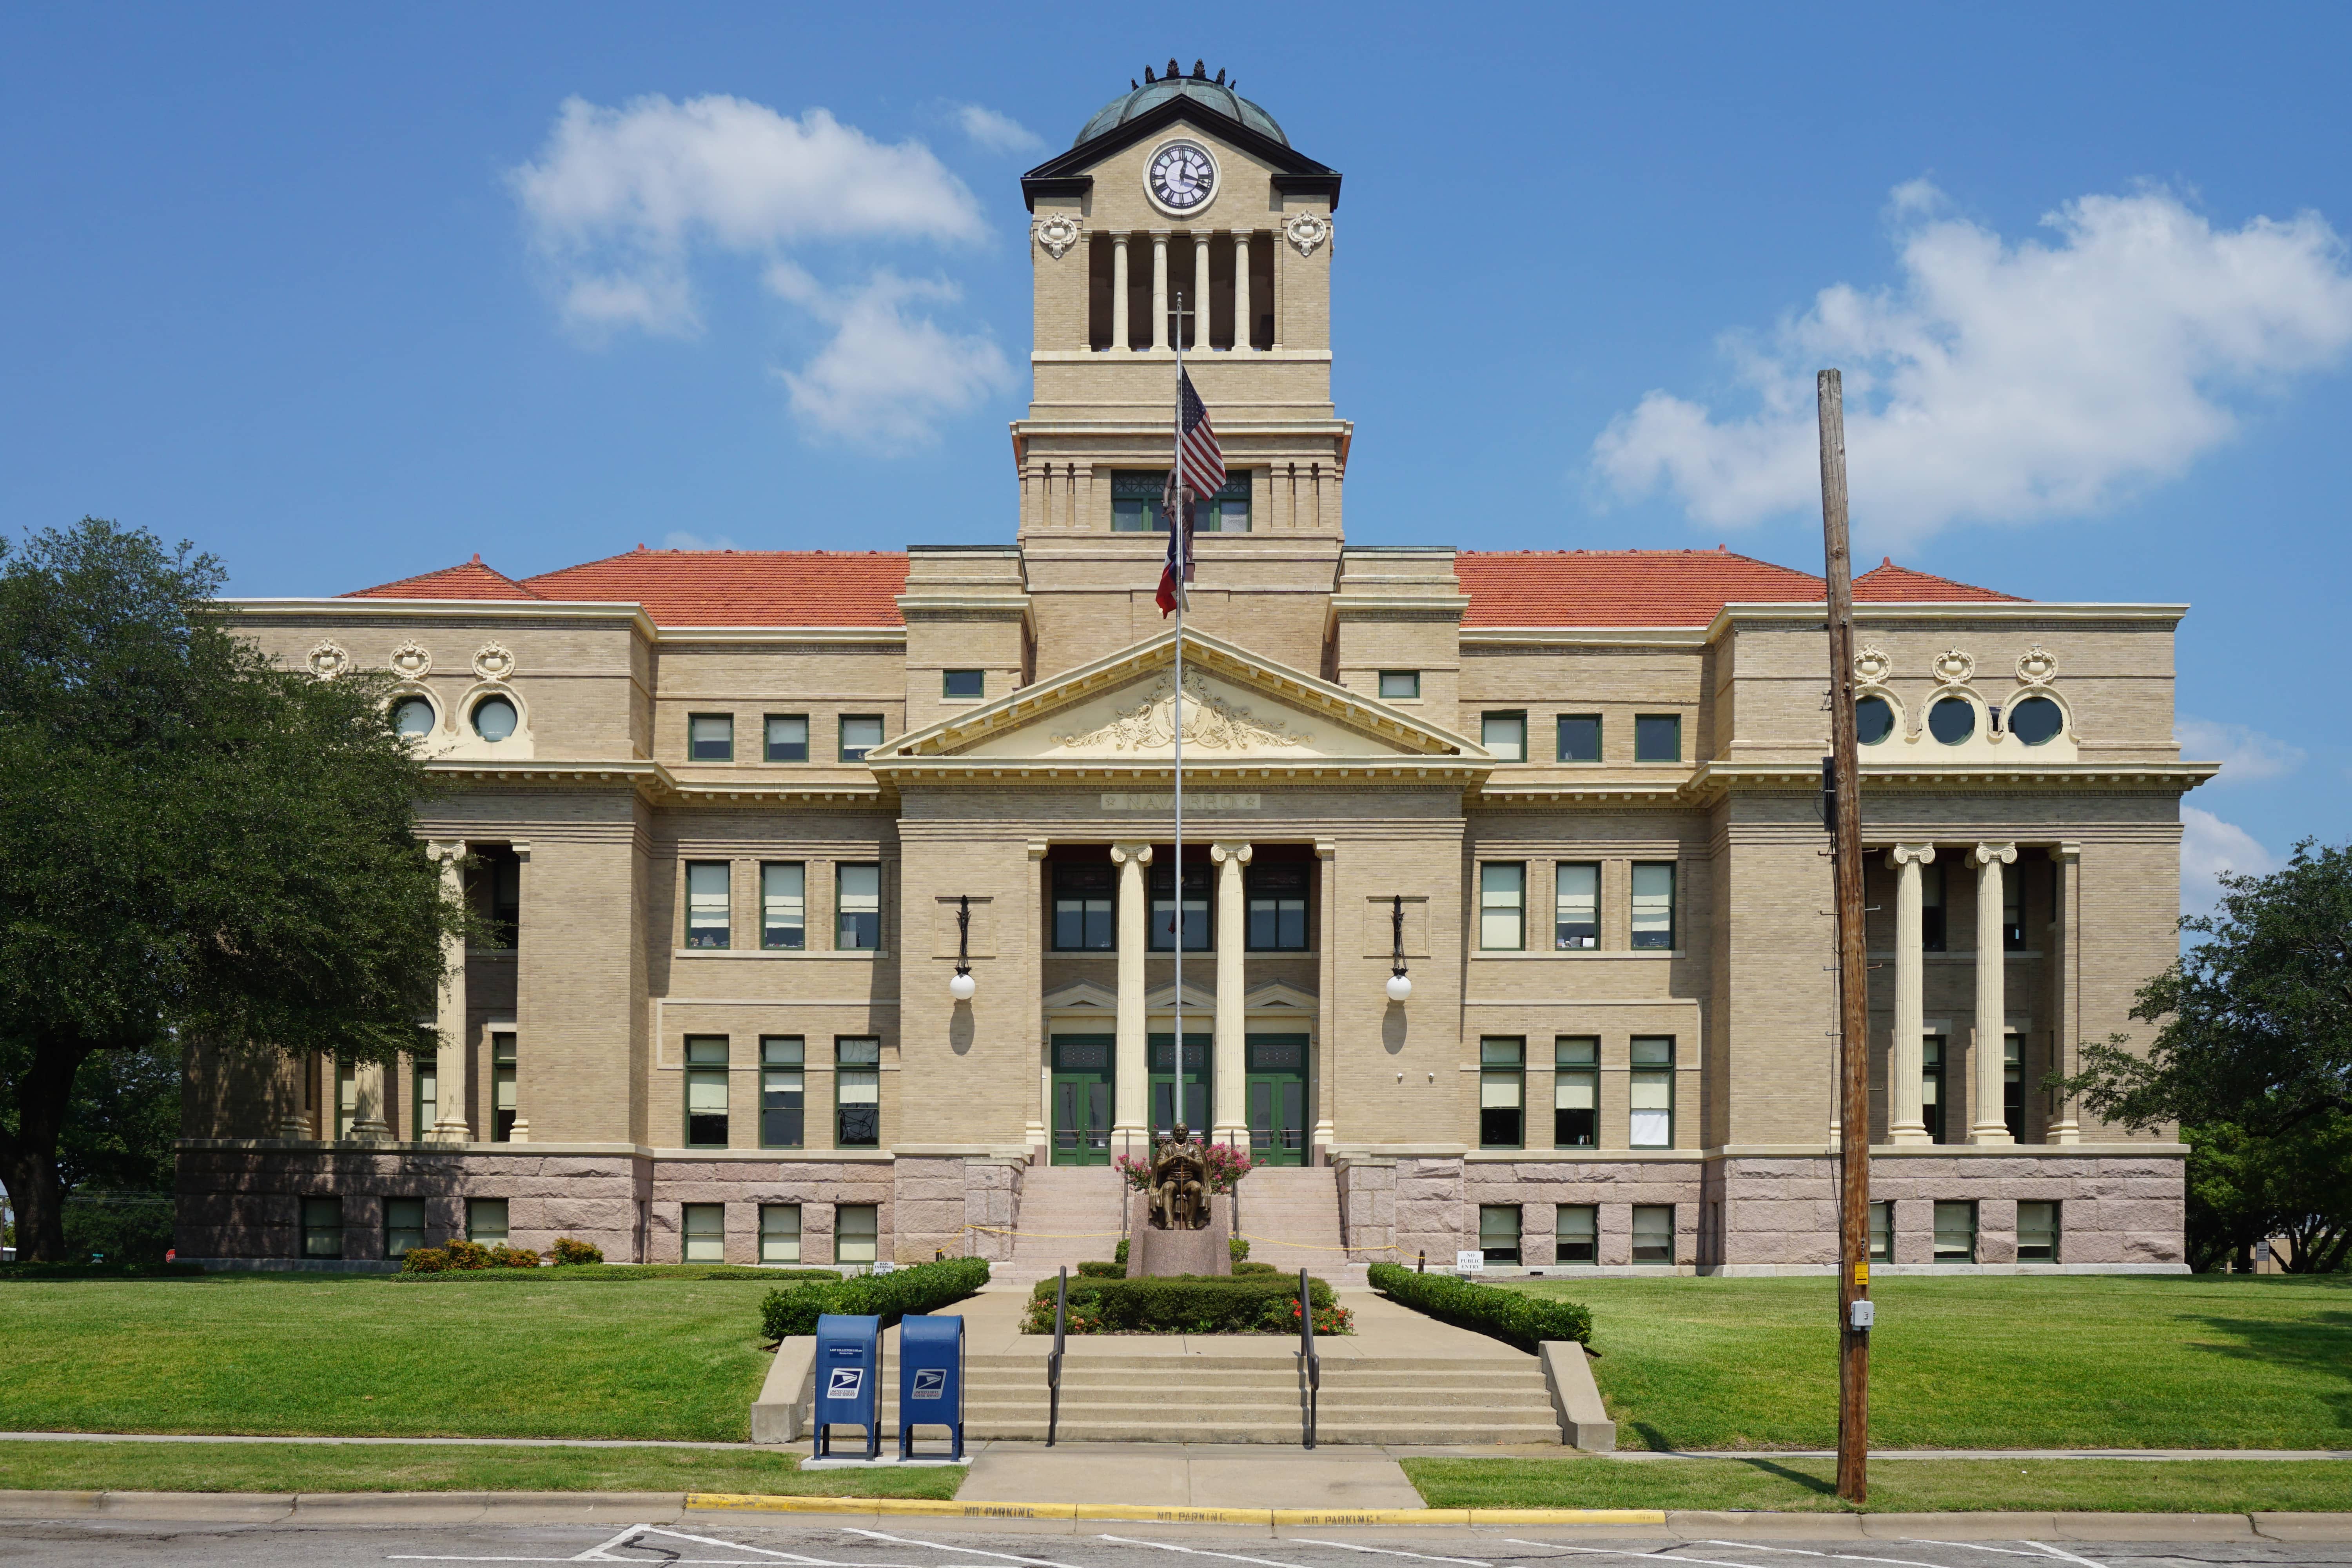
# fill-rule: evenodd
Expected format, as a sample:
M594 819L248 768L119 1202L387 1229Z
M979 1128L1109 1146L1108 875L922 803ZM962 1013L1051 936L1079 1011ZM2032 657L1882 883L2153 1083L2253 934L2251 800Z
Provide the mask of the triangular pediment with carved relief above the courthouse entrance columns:
M960 769L1167 769L1183 724L1185 769L1329 769L1451 764L1484 771L1472 741L1345 686L1258 658L1230 642L1176 632L901 736L866 755L877 773Z

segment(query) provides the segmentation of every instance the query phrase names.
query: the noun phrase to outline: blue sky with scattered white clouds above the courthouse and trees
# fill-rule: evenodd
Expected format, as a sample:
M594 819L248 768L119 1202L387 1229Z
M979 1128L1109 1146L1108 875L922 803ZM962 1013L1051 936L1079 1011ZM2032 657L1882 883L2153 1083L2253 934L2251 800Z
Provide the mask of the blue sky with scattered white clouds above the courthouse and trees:
M2194 604L2192 872L2345 837L2352 12L1162 14L14 5L0 527L256 595L1009 538L1016 176L1207 56L1348 176L1352 538L1818 569L1842 362L1870 559Z

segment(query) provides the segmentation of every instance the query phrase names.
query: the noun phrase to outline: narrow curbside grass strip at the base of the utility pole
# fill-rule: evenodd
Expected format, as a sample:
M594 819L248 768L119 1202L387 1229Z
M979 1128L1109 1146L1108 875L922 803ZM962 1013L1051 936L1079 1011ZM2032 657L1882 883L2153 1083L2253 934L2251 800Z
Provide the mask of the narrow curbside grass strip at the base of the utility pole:
M1432 1509L1835 1512L1837 1460L1404 1460ZM1872 1460L1870 1512L2352 1507L2352 1460Z

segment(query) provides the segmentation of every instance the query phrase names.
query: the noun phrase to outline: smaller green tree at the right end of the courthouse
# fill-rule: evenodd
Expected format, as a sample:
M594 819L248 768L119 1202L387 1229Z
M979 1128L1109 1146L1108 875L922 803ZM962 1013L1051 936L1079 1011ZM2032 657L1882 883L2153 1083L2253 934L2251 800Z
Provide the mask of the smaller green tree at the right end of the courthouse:
M2288 1267L2352 1255L2352 846L2296 844L2267 877L2223 875L2204 936L2133 999L2157 1025L2086 1044L2082 1072L2051 1081L2110 1121L2178 1121L2190 1143L2190 1251L2199 1267L2263 1237L2293 1241Z

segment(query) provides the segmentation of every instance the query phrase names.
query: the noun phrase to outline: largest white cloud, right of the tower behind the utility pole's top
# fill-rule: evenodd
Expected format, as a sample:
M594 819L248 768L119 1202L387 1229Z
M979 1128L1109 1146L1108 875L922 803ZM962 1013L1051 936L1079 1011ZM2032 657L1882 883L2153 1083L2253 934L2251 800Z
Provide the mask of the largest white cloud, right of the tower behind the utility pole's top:
M2352 346L2352 273L2317 214L2213 228L2169 190L2084 195L2006 242L1933 186L1893 193L1903 277L1823 289L1724 350L1750 414L1653 390L1592 444L1623 496L1665 484L1691 517L1820 505L1813 371L1844 369L1856 531L2091 512L2230 440L2230 395L2277 393Z

